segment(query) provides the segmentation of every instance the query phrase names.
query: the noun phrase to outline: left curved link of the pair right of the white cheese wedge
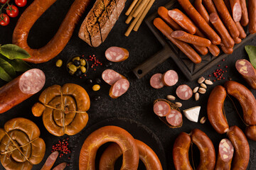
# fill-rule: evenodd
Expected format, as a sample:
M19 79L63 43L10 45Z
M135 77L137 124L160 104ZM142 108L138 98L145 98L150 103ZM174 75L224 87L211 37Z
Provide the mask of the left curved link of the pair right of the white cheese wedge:
M207 115L210 124L220 134L228 132L228 121L223 114L223 103L226 96L227 93L223 86L215 86L210 92L207 103Z

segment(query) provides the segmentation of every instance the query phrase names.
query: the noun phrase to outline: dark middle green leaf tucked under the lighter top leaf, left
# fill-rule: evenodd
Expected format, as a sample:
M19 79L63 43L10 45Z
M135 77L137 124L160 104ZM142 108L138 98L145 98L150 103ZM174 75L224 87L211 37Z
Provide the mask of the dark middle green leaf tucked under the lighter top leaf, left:
M9 62L14 67L16 72L26 72L28 69L31 69L31 66L21 59L9 60L8 58L4 57L4 55L0 54L0 59L1 58L6 60L6 62Z

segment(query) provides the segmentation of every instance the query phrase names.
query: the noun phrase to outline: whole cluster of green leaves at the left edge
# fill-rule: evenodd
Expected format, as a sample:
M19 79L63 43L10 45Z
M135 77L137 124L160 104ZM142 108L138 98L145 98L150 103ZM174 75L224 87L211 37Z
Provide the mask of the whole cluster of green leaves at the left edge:
M0 45L0 79L11 81L16 72L25 72L31 67L21 59L31 57L26 50L17 45Z

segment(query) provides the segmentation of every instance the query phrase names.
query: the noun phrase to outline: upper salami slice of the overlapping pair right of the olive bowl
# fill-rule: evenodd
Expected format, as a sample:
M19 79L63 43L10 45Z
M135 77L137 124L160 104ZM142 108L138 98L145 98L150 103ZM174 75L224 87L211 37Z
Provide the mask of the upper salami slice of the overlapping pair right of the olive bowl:
M126 79L124 76L119 74L118 72L114 72L112 69L106 69L102 72L102 79L112 86L119 79Z

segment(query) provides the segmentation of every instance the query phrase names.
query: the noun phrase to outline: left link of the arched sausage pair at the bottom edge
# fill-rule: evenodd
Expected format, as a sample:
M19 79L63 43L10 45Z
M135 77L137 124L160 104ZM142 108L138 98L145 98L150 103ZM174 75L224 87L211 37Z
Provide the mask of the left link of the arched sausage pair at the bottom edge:
M174 142L173 159L176 170L193 170L188 157L191 146L191 137L186 132L181 132Z

